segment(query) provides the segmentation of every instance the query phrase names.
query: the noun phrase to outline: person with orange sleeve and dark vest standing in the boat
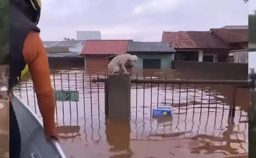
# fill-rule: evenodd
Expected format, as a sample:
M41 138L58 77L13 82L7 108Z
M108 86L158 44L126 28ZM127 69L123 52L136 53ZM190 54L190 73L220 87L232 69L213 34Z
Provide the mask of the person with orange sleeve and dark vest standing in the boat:
M58 140L55 127L55 100L51 85L47 53L36 26L40 18L40 0L10 0L9 8L9 156L19 158L21 135L12 107L12 90L28 65L47 140Z

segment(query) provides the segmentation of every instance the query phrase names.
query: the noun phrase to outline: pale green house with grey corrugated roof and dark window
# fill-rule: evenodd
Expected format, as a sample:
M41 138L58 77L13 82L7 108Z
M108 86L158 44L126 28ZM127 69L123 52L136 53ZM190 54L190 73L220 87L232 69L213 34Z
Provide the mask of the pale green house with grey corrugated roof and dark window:
M138 56L135 68L170 69L175 50L166 42L129 41L127 53Z

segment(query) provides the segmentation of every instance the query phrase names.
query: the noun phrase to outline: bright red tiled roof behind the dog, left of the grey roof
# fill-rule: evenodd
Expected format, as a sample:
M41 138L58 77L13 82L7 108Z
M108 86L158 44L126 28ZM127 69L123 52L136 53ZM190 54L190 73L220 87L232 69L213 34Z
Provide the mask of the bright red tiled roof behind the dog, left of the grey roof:
M127 52L128 42L132 40L88 40L81 54L118 55Z

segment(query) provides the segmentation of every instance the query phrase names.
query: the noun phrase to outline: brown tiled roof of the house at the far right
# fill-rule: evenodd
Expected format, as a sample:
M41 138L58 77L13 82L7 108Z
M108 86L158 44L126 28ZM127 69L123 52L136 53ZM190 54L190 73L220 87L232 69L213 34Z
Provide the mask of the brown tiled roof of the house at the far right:
M248 29L211 29L226 43L248 42Z

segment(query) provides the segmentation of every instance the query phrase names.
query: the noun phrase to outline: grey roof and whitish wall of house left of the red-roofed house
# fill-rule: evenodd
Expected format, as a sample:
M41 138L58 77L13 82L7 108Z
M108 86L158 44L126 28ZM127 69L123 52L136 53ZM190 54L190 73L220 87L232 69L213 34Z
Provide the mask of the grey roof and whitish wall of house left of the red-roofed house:
M69 53L80 54L86 40L68 40L53 44L52 48L68 48Z

